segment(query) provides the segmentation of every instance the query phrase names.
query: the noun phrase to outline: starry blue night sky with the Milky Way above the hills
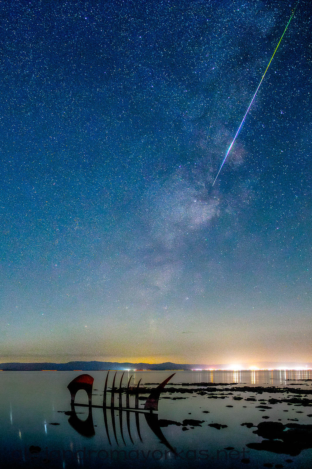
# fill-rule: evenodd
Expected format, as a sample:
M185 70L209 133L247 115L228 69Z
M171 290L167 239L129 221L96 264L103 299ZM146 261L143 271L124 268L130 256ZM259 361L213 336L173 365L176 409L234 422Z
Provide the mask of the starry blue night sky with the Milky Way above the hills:
M312 8L0 4L1 361L312 361Z

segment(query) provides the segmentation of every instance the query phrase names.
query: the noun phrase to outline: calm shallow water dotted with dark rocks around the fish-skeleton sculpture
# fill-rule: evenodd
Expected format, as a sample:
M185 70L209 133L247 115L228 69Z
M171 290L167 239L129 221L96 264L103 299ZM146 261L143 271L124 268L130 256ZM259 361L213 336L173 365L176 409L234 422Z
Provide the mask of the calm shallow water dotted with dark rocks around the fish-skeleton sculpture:
M94 378L92 404L99 407L75 406L73 411L66 386L82 373L86 372L0 373L3 467L312 465L311 371L176 371L152 416L110 408L103 411L107 371L89 372ZM116 374L117 387L122 373ZM125 371L123 386L131 375L132 386L141 379L139 408L143 408L149 395L144 388L155 387L172 373ZM109 373L109 390L114 374ZM107 399L109 405L110 392ZM118 402L117 393L117 407ZM85 391L78 391L75 403L87 404ZM134 395L130 407L134 407Z

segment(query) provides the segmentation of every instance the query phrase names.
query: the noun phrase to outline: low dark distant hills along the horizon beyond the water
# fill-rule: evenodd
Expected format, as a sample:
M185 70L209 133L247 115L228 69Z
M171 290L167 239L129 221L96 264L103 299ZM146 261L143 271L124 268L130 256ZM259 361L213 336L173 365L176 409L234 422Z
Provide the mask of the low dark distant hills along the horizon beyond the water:
M277 363L277 362L260 362L255 366L260 369L312 369L312 363ZM229 370L232 364L181 364L181 363L117 363L117 362L68 362L68 363L0 363L0 370L3 371L101 371L101 370ZM250 364L240 363L241 370L251 368Z

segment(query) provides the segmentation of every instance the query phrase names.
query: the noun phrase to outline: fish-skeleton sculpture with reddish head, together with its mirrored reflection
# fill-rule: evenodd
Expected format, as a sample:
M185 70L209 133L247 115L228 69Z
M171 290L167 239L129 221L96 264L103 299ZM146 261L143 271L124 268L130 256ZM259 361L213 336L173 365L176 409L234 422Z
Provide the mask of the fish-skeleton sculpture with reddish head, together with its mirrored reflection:
M94 378L92 378L92 376L88 374L83 374L83 375L78 376L77 378L74 378L73 381L69 383L67 388L69 389L71 393L71 412L69 413L70 417L68 419L68 423L76 431L78 431L80 435L83 435L85 437L92 437L95 435L93 417L92 417L92 408L102 408L105 430L106 430L109 444L111 445L111 440L109 436L109 425L108 425L108 420L107 420L107 412L110 411L114 437L115 437L117 445L119 445L117 435L116 435L116 419L115 419L115 411L118 410L120 434L123 440L123 444L126 445L125 440L123 438L123 415L124 415L123 412L125 412L126 425L127 425L127 430L128 430L131 443L133 443L133 439L131 435L130 415L133 413L135 416L135 423L136 423L136 428L138 432L138 437L142 441L142 437L140 433L139 414L144 414L147 425L153 431L153 433L160 439L160 442L166 445L167 448L169 448L172 452L174 452L174 448L168 443L167 439L165 438L164 434L161 431L157 412L158 412L158 402L160 398L160 393L163 391L164 387L166 386L168 381L174 376L175 373L170 375L167 379L165 379L162 383L160 383L160 385L154 388L152 392L150 393L150 395L148 396L148 398L146 399L144 408L139 408L138 407L139 386L140 386L141 379L138 381L136 388L134 389L130 388L130 381L132 378L132 375L131 375L128 381L128 385L125 389L125 406L123 406L122 382L123 382L124 373L122 374L122 377L120 379L119 389L117 389L115 387L117 372L115 373L115 376L113 378L112 389L110 392L110 405L107 405L107 394L108 394L107 384L108 384L108 378L109 378L109 371L105 379L102 406L92 404L92 388L93 388L93 381L94 381ZM88 404L75 403L76 393L80 389L83 389L87 392ZM134 403L134 407L130 407L130 394L133 394L133 393L135 395L135 403ZM118 395L118 406L115 405L116 394ZM81 420L77 416L75 406L88 407L88 416L86 420Z

